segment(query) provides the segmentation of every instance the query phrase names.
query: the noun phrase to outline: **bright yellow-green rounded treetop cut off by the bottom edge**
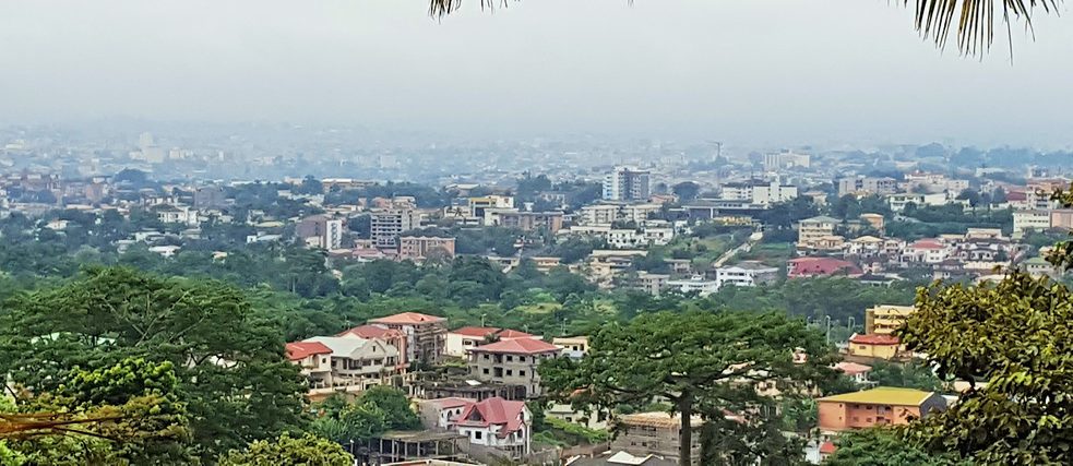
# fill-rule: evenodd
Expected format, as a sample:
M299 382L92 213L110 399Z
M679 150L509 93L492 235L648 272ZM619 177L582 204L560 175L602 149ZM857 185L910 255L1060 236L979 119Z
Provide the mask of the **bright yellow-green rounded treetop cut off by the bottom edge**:
M219 458L219 466L350 466L354 457L338 443L312 434L293 438L284 433L273 441L259 440Z

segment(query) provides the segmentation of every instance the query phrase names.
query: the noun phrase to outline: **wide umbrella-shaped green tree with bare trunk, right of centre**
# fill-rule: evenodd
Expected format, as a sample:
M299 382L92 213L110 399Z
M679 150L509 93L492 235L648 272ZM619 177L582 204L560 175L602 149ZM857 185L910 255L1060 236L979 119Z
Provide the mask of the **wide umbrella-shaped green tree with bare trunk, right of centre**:
M794 348L810 355L808 362L794 363ZM588 357L547 360L540 375L551 396L579 408L663 397L681 419L718 419L725 409L765 402L758 399L754 383L792 390L834 377L830 351L822 336L784 313L658 312L605 325L593 335ZM692 435L690 422L683 422L682 465L690 464Z

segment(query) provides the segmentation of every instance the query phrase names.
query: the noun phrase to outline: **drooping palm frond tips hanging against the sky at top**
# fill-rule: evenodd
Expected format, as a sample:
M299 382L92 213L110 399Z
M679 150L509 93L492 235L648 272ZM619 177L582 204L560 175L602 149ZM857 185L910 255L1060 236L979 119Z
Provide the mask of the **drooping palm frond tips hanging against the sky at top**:
M478 0L474 0L478 1ZM481 9L494 9L497 3L506 7L509 0L479 0ZM632 0L628 0L632 3ZM965 55L987 51L994 41L994 26L1000 21L1012 37L1011 20L1024 19L1029 34L1032 15L1036 9L1058 14L1061 0L902 0L916 7L916 27L927 38L932 38L940 49L946 47L950 37L956 37L957 49ZM430 0L429 14L443 17L462 7L462 0ZM1001 11L1001 15L997 12ZM955 27L956 25L956 27Z

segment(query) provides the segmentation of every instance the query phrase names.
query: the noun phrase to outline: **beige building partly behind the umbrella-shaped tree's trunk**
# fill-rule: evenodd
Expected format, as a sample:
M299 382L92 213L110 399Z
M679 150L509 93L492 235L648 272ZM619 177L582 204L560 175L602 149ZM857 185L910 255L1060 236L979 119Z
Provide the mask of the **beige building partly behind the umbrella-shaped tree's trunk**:
M639 413L619 416L615 421L619 430L618 437L611 441L611 450L623 451L633 455L657 455L677 461L678 444L681 439L682 418L666 411ZM701 440L699 428L704 425L700 416L690 418L693 430L690 443L690 456L693 464L700 464Z

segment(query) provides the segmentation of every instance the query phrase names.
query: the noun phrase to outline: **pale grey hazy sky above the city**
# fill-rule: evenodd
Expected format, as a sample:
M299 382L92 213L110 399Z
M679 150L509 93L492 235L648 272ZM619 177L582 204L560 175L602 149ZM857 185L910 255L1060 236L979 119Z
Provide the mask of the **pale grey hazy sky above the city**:
M940 52L901 0L4 0L0 121L1073 145L1073 23ZM1069 16L1063 10L1063 16Z

